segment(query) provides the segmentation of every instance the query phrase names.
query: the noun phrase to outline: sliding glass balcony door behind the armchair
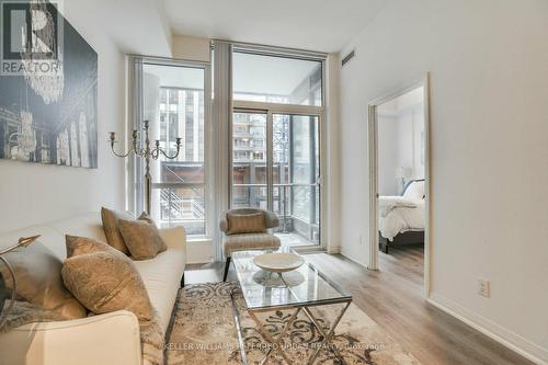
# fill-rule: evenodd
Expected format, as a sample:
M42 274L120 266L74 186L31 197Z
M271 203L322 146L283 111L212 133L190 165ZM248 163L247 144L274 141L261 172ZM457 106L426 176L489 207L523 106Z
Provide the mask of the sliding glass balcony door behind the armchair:
M232 208L274 212L284 244L319 244L319 115L235 111Z

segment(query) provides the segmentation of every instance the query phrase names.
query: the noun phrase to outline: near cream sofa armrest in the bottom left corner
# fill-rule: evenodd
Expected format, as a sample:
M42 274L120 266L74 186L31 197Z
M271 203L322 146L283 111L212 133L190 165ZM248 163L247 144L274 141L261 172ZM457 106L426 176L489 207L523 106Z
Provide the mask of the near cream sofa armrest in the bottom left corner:
M141 364L139 323L130 311L34 322L0 334L0 364Z

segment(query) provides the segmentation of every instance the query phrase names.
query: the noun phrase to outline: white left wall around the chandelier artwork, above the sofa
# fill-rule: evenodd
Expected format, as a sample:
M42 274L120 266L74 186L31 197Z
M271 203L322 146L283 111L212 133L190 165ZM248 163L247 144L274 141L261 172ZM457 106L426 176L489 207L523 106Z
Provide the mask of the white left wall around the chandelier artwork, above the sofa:
M107 146L107 133L123 136L123 58L98 27L98 20L70 1L65 14L99 54L99 169L42 166L0 160L0 232L101 208L122 209L124 164Z

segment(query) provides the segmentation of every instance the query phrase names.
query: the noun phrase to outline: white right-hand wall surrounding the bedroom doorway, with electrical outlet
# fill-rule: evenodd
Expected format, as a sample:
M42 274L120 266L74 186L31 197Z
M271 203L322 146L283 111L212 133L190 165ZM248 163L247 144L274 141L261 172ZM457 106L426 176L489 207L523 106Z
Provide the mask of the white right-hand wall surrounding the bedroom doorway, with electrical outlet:
M547 39L545 0L400 1L341 72L343 254L368 262L367 102L431 71L432 298L545 362Z

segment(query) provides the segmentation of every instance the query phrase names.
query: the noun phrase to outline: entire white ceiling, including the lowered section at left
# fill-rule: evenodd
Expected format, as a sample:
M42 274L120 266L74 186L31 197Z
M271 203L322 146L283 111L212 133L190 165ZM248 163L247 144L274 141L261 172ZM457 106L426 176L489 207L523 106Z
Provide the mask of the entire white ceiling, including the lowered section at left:
M396 0L70 0L123 53L171 56L172 34L339 52Z

